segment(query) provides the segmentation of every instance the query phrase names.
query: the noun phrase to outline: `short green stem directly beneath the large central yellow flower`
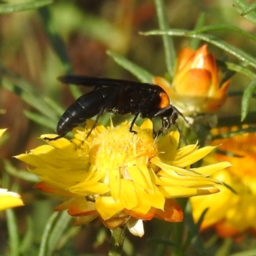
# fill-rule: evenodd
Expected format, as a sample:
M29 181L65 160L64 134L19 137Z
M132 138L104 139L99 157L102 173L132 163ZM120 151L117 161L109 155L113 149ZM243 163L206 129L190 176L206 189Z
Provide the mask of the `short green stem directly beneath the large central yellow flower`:
M111 231L111 240L108 256L119 256L122 254L125 241L125 227L121 226Z

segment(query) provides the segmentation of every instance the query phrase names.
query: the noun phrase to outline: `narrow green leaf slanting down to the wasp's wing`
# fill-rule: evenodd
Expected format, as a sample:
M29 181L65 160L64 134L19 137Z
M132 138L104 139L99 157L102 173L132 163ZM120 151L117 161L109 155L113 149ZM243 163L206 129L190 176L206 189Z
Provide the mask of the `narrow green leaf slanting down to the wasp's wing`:
M118 55L116 53L113 53L112 51L107 51L107 54L113 58L113 61L117 62L119 66L124 67L126 70L128 70L130 73L132 73L137 79L139 79L143 83L152 83L152 80L154 79L154 75L151 73L148 73L145 69L142 67L137 66L137 64L128 61L125 59L125 57Z

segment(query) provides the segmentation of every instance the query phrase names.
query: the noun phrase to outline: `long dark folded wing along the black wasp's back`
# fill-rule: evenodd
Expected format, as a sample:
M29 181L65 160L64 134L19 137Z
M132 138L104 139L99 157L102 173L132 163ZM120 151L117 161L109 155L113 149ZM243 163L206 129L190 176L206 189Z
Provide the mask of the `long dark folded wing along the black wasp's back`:
M65 76L59 77L58 79L64 84L76 84L76 85L84 85L84 86L108 86L108 87L139 86L141 89L145 89L145 90L152 88L152 86L154 86L154 90L156 90L156 88L159 87L156 84L145 84L145 83L128 81L123 79L106 79L106 78L96 78L96 77L79 76L79 75L65 75Z

